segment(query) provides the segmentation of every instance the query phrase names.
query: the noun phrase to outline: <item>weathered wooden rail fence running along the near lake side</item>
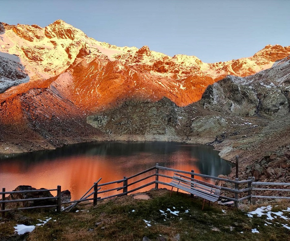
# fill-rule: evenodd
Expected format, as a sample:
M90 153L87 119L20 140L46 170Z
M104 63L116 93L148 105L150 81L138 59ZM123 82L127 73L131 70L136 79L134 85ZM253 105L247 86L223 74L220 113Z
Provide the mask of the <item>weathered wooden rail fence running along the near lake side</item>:
M151 173L150 173L151 172ZM163 174L162 172L167 172L166 174ZM99 181L102 179L100 178L98 181L96 181L90 189L78 200L70 201L70 202L63 202L61 203L60 201L60 194L61 194L61 186L57 186L56 189L48 189L48 190L30 190L30 191L11 191L11 192L6 192L5 188L3 188L2 192L0 192L0 195L2 194L2 201L0 201L0 204L2 204L2 210L0 212L7 212L11 209L5 209L5 203L14 203L14 202L26 202L26 201L36 201L36 200L46 200L46 199L55 199L57 200L57 204L55 205L48 205L48 206L37 206L37 207L27 207L27 208L18 208L18 209L33 209L33 208L52 208L56 207L56 211L66 211L66 210L71 210L77 203L83 202L83 201L93 201L93 205L97 205L98 201L105 200L105 199L110 199L118 196L123 196L123 195L128 195L132 192L138 191L142 188L148 187L148 186L153 186L155 189L159 188L159 185L163 186L169 186L169 182L171 181L173 177L173 173L182 173L189 175L191 178L195 178L195 176L199 176L205 179L211 179L215 181L224 181L227 183L231 183L233 185L233 188L228 188L228 187L221 187L221 190L227 192L229 196L222 195L222 199L230 200L235 202L235 207L238 207L238 203L240 201L243 201L245 199L248 199L248 203L250 204L251 202L255 204L256 198L268 198L268 199L290 199L290 197L286 196L262 196L262 195L257 195L256 191L290 191L290 189L275 189L275 188L256 188L258 185L263 185L263 186L277 186L277 185L284 185L284 186L290 186L290 183L275 183L275 182L255 182L255 178L249 177L248 180L242 180L239 181L238 178L235 180L230 180L230 179L225 179L225 178L220 178L216 176L209 176L209 175L204 175L204 174L199 174L195 173L194 170L191 170L191 172L187 171L182 171L182 170L177 170L173 168L168 168L168 167L162 167L159 166L158 163L156 163L156 166L151 167L147 170L144 170L142 172L139 172L135 175L126 177L124 176L123 179L117 180L117 181L111 181L111 182L106 182L99 184ZM141 175L146 174L145 177L140 177ZM169 175L170 174L170 175ZM137 181L132 181L133 178L138 177L139 179ZM155 178L154 178L155 177ZM151 179L151 180L148 180ZM152 180L153 179L153 180ZM147 180L146 184L140 185L138 187L132 188L132 185L138 184L141 181ZM116 184L121 184L120 186L109 188L110 185L116 185ZM212 187L217 187L216 185L206 183L208 186ZM106 188L105 188L106 187ZM171 187L171 186L170 186ZM105 190L99 191L102 188ZM93 190L93 191L92 191ZM44 192L44 191L57 191L57 196L56 197L49 197L49 198L35 198L35 199L17 199L17 200L5 200L5 195L6 194L16 194L16 193L30 193L30 192ZM90 192L91 191L91 192ZM114 194L109 194L110 192L117 192ZM104 196L105 195L105 196ZM106 196L107 195L107 196ZM239 198L240 195L240 198ZM90 196L93 196L90 198ZM63 204L71 204L67 208L64 208L61 210L61 205Z

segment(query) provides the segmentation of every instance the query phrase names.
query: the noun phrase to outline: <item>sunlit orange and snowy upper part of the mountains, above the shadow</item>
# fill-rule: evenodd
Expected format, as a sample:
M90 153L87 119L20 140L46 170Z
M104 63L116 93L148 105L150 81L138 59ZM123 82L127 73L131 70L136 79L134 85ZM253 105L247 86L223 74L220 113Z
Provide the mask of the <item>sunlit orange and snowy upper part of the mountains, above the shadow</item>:
M268 45L249 58L207 64L196 56L170 57L147 46L138 49L98 42L62 20L45 28L2 23L0 29L1 52L21 73L2 78L1 92L20 83L49 79L46 87L89 110L132 96L151 100L166 96L185 106L199 100L209 84L226 75L245 77L290 54L290 46ZM9 66L1 69L8 72Z

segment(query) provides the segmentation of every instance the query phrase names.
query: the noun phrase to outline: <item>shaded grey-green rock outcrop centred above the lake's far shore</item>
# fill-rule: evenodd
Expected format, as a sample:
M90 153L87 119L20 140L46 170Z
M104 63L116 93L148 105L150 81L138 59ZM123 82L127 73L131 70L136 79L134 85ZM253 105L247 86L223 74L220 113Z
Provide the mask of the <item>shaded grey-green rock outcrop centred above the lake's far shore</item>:
M116 108L87 117L87 123L110 135L167 136L174 140L178 107L163 98L157 102L125 100Z

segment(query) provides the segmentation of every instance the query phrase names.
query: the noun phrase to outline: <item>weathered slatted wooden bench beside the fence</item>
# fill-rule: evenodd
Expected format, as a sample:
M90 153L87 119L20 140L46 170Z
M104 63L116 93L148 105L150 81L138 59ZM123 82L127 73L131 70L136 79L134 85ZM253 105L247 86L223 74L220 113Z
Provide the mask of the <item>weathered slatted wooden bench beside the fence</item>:
M184 176L179 173L174 173L172 181L169 183L169 185L172 186L170 197L174 187L177 188L177 192L178 189L181 189L185 192L204 199L204 202L205 200L208 200L209 202L214 203L219 199L221 194L221 187L188 176ZM204 202L202 205L202 210L204 208Z

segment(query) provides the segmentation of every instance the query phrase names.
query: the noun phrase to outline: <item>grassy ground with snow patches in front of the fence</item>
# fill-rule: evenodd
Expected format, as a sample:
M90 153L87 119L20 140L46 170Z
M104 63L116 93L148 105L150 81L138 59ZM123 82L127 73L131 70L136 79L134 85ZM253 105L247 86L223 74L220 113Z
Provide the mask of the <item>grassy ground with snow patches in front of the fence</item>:
M272 221L261 217L248 217L245 212L233 207L205 204L201 211L202 200L190 195L173 193L168 190L148 191L151 199L136 200L133 195L99 202L97 207L91 203L79 204L73 212L24 214L44 220L51 217L45 225L36 227L29 234L12 235L16 221L0 224L0 240L288 240L290 230L281 223L289 220L281 218ZM289 203L272 204L273 212L289 207ZM256 209L257 207L250 207ZM178 216L170 213L179 211ZM82 210L75 212L76 210ZM134 210L134 211L133 211ZM164 213L162 213L161 211ZM224 212L222 211L224 210ZM165 215L166 214L166 215ZM285 216L290 213L284 212ZM55 220L55 221L54 221ZM150 221L148 226L144 221ZM266 226L265 221L272 224ZM277 223L276 223L277 222ZM278 224L279 222L279 224ZM252 233L257 229L259 233ZM242 232L242 233L241 233ZM12 236L11 236L12 235ZM17 237L16 237L17 236Z

